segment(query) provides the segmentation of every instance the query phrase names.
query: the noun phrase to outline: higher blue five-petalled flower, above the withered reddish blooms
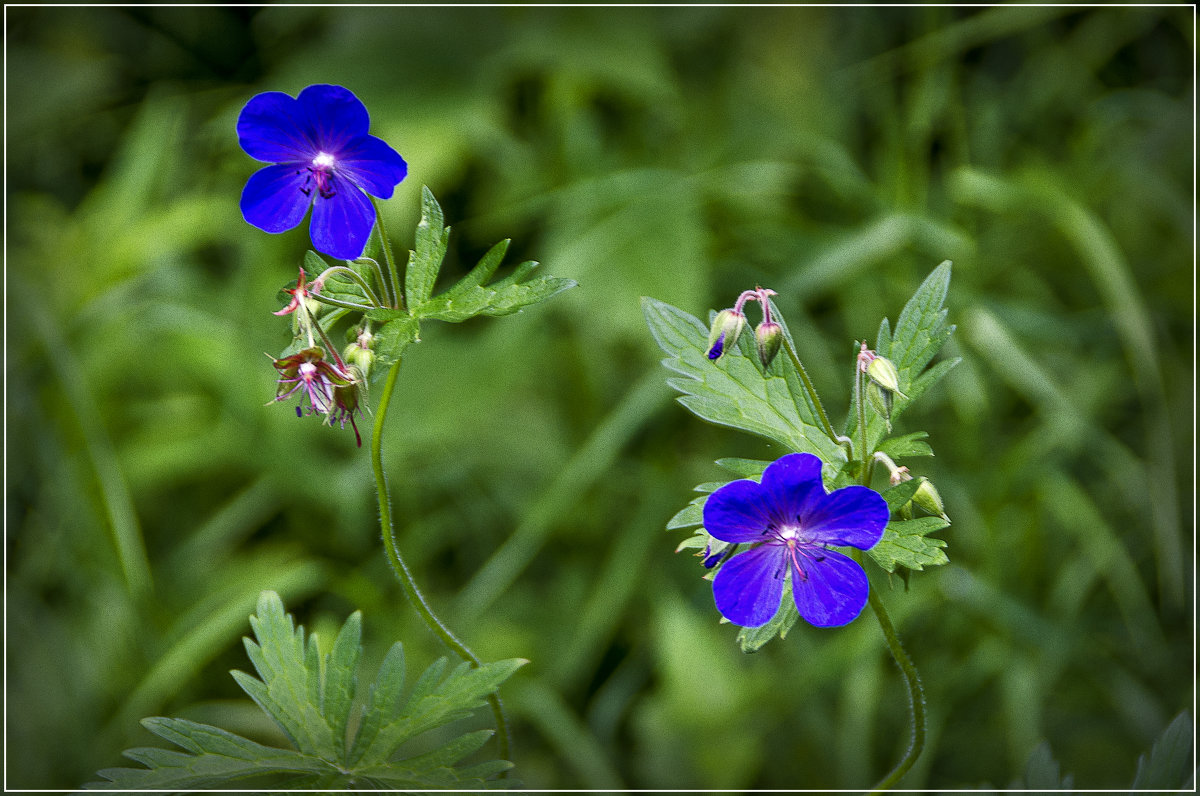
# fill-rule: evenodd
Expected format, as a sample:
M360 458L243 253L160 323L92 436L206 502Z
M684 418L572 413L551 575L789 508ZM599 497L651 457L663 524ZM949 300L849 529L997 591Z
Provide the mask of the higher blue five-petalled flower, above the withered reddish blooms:
M312 245L338 259L362 255L380 199L408 174L396 150L374 136L367 109L340 85L310 85L294 100L259 94L238 116L238 142L274 163L251 175L241 214L264 232L292 229L312 205Z

